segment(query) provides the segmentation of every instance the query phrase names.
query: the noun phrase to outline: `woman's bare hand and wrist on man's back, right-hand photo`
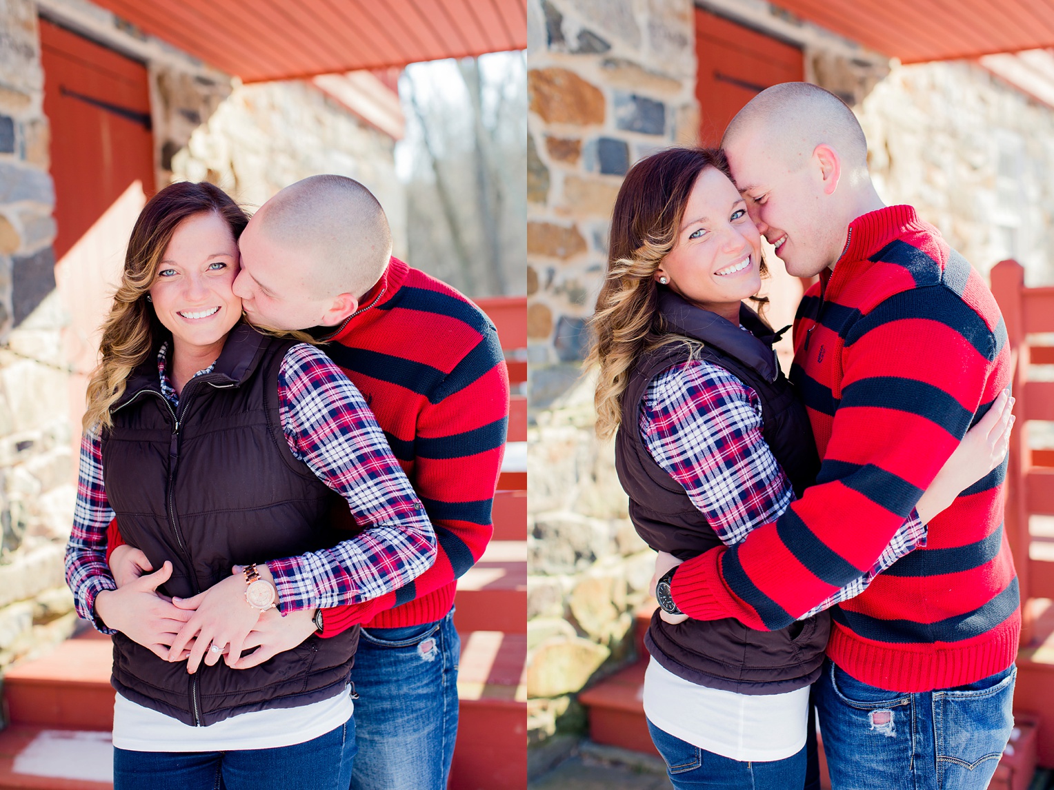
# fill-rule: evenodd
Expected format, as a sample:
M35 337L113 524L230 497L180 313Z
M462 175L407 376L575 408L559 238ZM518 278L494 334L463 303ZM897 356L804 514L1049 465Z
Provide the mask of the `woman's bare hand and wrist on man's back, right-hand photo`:
M929 524L931 518L955 501L960 492L1002 463L1014 427L1013 408L1014 398L1003 390L988 414L962 437L959 447L915 506L922 521Z

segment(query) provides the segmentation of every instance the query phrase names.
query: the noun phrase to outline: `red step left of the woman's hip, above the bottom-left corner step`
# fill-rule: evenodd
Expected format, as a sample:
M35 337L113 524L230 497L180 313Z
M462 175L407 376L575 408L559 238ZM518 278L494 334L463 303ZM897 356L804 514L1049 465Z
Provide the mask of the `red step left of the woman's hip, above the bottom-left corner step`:
M109 638L66 639L47 655L12 666L3 683L11 723L109 731L114 726L112 667Z

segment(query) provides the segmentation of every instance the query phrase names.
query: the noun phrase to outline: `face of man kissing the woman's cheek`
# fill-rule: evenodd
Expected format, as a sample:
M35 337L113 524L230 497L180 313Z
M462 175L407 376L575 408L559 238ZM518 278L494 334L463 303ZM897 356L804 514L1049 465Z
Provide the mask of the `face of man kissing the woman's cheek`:
M260 229L259 214L242 231L238 246L241 272L233 290L241 297L250 323L274 330L329 324L333 299L319 297L313 287L310 256L267 238Z

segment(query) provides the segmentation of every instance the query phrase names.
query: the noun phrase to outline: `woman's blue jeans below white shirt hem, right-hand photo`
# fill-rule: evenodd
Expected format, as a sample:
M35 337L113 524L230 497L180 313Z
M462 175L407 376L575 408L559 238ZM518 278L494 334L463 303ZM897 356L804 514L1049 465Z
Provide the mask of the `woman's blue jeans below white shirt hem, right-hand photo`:
M677 790L797 790L805 782L806 747L785 759L741 763L700 749L648 722L656 749L666 761L666 773Z

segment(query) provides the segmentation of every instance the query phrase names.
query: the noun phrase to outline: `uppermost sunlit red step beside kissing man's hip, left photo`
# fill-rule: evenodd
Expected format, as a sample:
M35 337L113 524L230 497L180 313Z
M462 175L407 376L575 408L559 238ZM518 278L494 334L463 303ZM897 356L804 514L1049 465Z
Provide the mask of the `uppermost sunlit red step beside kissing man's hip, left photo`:
M460 579L454 625L462 633L527 633L527 541L491 540Z

